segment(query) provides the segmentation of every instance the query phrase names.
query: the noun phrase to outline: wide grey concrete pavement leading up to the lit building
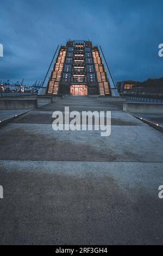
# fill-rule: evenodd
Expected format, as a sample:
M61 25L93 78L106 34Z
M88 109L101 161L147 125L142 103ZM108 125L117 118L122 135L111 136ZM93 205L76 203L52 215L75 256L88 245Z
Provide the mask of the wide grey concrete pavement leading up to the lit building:
M53 131L53 111L111 111L111 135ZM123 101L66 97L0 130L0 243L161 245L162 133Z

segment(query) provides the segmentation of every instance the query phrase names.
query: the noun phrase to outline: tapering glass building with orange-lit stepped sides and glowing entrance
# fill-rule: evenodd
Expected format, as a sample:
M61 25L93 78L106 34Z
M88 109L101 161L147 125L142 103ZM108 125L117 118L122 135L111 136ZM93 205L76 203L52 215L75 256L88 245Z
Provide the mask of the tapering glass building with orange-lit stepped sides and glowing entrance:
M98 47L85 40L70 40L61 46L46 94L110 96L109 78Z

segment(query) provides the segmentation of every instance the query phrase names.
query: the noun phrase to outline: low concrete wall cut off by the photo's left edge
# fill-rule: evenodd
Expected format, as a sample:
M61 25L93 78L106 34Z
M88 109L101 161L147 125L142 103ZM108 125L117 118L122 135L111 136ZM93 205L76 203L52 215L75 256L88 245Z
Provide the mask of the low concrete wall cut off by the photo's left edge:
M0 109L31 109L37 108L36 99L1 99Z

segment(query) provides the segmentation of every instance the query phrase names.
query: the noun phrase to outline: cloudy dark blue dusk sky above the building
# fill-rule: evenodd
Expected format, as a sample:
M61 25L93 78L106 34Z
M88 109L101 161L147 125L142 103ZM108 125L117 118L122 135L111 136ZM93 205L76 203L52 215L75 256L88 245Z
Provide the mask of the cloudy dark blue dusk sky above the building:
M163 76L162 0L0 0L0 80L43 80L57 45L101 45L114 80Z

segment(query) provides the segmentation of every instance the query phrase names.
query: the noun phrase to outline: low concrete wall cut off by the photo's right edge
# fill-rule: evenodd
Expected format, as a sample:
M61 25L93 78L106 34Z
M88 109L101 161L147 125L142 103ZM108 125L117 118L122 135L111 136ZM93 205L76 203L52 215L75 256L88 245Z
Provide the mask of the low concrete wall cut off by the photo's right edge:
M123 111L130 113L163 114L163 103L124 102Z

